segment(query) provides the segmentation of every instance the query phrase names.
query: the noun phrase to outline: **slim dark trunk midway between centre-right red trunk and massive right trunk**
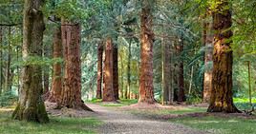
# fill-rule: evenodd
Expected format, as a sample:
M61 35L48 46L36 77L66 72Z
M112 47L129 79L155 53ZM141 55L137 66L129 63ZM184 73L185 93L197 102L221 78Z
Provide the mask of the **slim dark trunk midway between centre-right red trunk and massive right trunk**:
M178 102L185 101L185 93L184 93L184 67L183 67L183 59L182 59L182 52L183 52L183 39L181 37L181 43L178 46L178 51L180 54L180 63L179 63L179 94L178 94Z

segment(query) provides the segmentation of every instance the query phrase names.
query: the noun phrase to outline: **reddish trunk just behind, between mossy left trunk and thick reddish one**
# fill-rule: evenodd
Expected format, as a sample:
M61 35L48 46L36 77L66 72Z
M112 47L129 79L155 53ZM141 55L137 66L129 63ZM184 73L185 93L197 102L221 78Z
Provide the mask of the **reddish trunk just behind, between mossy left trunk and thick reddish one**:
M53 33L53 59L60 59L62 57L61 28L59 27L55 28ZM60 104L62 84L62 64L56 62L53 64L52 90L48 101Z

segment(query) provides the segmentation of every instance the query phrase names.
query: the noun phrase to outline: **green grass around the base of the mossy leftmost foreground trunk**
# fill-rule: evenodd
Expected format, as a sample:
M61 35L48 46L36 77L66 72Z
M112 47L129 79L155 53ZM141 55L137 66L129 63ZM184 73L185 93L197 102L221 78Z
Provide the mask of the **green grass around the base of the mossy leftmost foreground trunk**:
M49 124L11 120L11 112L0 108L1 134L94 134L101 124L96 118L50 117Z

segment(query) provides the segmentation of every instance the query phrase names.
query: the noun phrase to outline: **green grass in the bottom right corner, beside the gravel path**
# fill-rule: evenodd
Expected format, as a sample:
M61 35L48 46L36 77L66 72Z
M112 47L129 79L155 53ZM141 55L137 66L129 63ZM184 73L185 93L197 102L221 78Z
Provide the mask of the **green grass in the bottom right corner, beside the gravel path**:
M170 121L219 134L256 134L256 120L252 119L207 116L183 117Z

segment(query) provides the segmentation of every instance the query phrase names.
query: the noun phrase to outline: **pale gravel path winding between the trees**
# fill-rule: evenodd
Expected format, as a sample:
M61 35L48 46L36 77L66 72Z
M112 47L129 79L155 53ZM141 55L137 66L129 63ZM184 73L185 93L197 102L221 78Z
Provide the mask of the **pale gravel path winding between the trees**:
M205 134L181 124L153 121L125 111L118 111L100 105L88 105L98 113L104 124L98 129L100 134Z

